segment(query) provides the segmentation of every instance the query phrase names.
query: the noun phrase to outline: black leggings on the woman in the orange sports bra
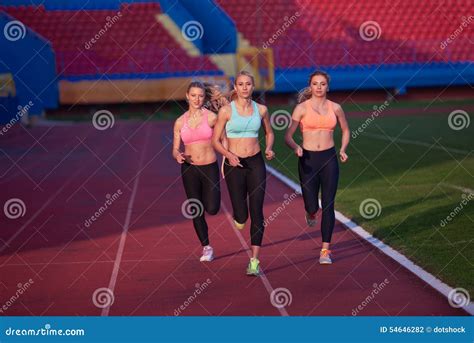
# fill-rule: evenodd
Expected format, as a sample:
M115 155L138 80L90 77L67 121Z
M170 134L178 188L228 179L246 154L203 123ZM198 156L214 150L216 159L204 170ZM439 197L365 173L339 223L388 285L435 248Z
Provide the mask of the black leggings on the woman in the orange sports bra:
M335 222L334 198L339 180L336 149L334 147L323 151L303 149L303 156L299 158L298 172L304 207L309 214L315 214L319 209L318 193L321 186L323 206L321 233L323 242L330 243Z

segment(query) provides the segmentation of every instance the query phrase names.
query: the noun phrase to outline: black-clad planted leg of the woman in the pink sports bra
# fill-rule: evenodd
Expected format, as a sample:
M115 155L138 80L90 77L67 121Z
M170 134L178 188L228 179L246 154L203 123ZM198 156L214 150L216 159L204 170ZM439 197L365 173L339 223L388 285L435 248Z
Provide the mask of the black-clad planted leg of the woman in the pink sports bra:
M201 204L203 204L202 184L199 174L200 173L195 166L186 162L181 165L181 177L183 179L184 190L186 191L188 200L197 199ZM204 208L202 208L202 211L199 211L198 215L193 218L193 224L194 230L196 230L196 234L201 241L201 245L209 245L208 227L204 217Z

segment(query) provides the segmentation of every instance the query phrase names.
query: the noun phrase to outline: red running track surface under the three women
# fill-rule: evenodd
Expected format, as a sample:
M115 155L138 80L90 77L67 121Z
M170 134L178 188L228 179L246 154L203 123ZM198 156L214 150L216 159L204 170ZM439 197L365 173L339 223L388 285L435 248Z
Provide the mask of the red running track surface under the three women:
M302 199L270 175L264 212L278 214L266 228L265 276L245 275L248 227L232 227L224 182L221 211L207 216L216 259L200 263L171 132L171 123L117 122L0 136L0 204L25 204L22 217L1 213L0 315L466 315L340 223L335 263L320 266L319 227L305 226ZM280 288L291 297L284 308L271 302Z

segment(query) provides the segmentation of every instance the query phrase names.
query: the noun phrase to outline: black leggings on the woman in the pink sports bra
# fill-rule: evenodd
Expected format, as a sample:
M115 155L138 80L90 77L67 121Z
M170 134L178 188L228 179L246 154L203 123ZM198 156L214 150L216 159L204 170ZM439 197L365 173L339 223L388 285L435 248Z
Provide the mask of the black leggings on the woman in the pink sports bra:
M198 206L193 204L196 206L194 209L190 208L193 201L188 203L188 211L193 217L194 229L202 246L209 245L208 227L206 219L204 218L204 211L214 215L219 212L221 205L219 167L217 162L203 166L196 166L184 162L181 165L181 176L188 200L197 199L200 202ZM196 211L197 207L200 208ZM186 208L184 208L183 211L186 211Z

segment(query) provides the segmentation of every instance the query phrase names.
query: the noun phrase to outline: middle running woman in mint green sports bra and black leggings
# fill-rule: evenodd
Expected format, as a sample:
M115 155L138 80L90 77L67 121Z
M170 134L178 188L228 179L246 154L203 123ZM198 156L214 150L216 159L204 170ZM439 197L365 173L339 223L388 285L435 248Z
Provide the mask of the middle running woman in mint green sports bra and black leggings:
M224 156L224 175L229 190L234 224L239 230L245 227L250 213L250 236L252 258L247 267L247 275L260 274L258 254L263 239L266 169L260 152L258 134L263 124L265 132L265 157L275 157L273 130L267 107L252 101L255 82L252 74L242 71L234 82L233 101L219 110L212 145ZM228 148L222 144L225 131ZM248 198L248 204L247 204Z

